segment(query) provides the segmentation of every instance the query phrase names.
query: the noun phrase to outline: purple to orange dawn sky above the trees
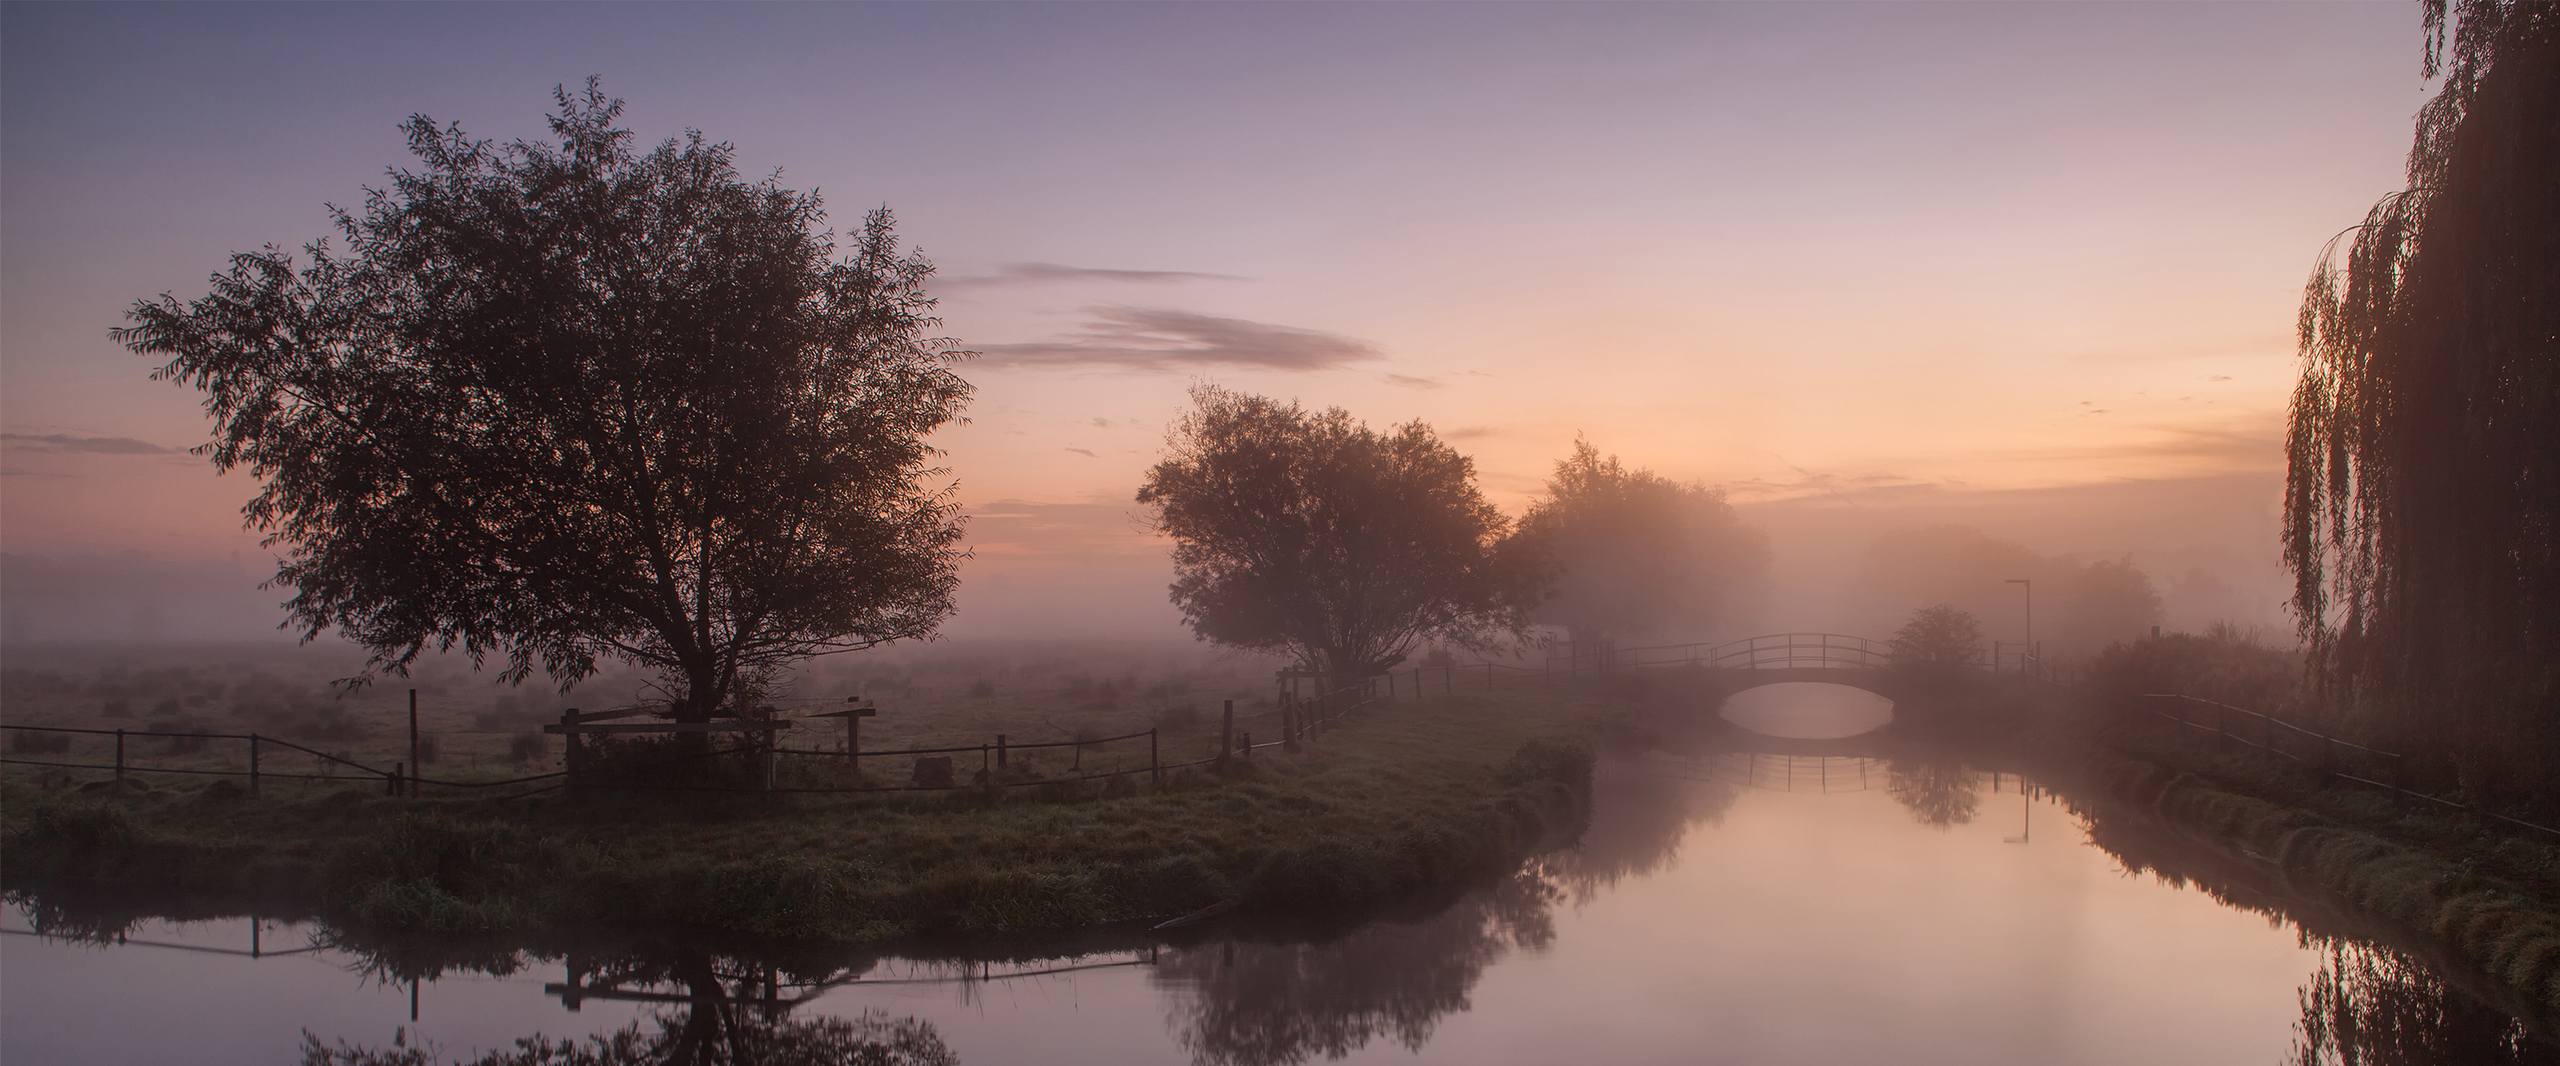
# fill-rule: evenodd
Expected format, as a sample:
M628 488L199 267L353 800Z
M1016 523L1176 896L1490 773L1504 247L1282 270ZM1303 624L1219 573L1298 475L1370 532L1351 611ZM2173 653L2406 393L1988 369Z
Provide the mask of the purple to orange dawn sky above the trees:
M940 264L978 351L940 438L973 515L955 633L1175 633L1132 492L1193 382L1428 420L1510 512L1585 433L1766 515L1782 569L1805 515L1830 520L1805 543L1930 515L2271 589L2294 310L2401 184L2417 28L2414 3L10 3L0 633L271 625L251 484L184 456L197 395L108 328L323 236L407 115L538 136L589 74L643 138L732 141L837 226L888 205Z

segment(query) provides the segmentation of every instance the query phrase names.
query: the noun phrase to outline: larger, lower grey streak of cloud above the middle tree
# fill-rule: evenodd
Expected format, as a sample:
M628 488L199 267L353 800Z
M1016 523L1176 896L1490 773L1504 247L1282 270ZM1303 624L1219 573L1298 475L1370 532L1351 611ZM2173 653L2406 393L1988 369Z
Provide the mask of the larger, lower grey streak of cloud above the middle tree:
M988 343L978 364L1121 369L1288 369L1313 372L1377 359L1377 348L1339 333L1170 308L1085 308L1083 331L1057 341Z

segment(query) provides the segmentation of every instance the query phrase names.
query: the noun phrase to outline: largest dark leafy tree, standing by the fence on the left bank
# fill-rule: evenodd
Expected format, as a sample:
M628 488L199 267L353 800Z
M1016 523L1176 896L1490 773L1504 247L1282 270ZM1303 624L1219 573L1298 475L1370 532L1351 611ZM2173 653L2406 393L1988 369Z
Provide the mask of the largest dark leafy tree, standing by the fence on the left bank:
M561 684L655 669L701 720L812 653L950 615L957 510L927 433L968 397L886 210L845 246L817 195L701 133L637 151L558 92L550 141L407 123L417 169L305 261L238 254L115 338L205 392L215 466L287 551L292 625L499 653Z

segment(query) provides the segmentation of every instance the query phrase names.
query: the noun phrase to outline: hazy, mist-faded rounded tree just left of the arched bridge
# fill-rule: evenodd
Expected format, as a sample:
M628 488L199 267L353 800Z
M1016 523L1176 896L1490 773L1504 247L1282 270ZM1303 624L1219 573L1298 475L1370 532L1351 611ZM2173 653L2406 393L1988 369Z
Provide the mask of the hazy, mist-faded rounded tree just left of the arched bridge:
M1736 615L1769 569L1769 543L1723 492L1628 469L1582 438L1513 541L1554 566L1531 618L1564 625L1574 643L1713 625Z

